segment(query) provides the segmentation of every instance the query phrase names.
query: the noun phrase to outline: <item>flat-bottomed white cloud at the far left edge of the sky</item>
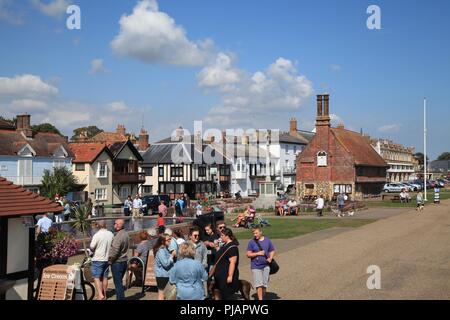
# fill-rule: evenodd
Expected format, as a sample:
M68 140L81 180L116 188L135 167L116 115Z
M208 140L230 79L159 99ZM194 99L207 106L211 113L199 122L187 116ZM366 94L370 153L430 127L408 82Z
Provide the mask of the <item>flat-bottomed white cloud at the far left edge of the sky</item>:
M42 97L58 93L58 89L32 74L0 77L0 98L3 96Z

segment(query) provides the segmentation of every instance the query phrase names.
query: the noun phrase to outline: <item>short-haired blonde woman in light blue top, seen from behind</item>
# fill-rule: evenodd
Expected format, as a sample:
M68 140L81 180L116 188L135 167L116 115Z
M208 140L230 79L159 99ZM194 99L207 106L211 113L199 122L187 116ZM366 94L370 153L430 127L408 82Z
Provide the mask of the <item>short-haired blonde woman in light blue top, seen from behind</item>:
M203 282L208 279L203 265L194 259L195 248L190 242L180 245L179 260L169 271L169 281L177 286L177 300L204 300Z

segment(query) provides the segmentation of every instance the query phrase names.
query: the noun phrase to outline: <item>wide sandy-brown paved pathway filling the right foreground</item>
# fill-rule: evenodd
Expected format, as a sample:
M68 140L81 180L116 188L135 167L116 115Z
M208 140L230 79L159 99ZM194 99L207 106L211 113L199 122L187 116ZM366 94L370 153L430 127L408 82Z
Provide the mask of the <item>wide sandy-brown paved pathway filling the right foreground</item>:
M307 218L314 219L300 217ZM450 201L430 204L419 214L370 209L344 219L360 218L379 220L356 229L331 228L275 240L281 270L271 278L268 298L450 299ZM240 273L250 280L246 243L240 248ZM380 290L367 289L370 265L381 269ZM133 288L126 296L156 298L155 293L138 292Z

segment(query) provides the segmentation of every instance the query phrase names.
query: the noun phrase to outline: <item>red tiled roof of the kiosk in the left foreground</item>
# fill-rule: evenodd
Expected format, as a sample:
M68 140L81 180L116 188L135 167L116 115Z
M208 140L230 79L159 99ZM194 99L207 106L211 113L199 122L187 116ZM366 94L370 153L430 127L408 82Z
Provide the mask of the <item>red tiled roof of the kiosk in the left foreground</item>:
M0 177L0 217L61 212L59 203L27 191Z

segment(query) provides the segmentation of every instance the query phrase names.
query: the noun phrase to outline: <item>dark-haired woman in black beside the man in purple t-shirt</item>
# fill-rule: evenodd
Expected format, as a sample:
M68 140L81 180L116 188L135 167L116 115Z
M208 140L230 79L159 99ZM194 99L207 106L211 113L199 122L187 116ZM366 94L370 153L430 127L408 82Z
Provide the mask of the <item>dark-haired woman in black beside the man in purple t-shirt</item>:
M214 298L231 300L239 287L239 249L231 229L224 228L220 238L224 245L217 252L210 272L214 275Z

